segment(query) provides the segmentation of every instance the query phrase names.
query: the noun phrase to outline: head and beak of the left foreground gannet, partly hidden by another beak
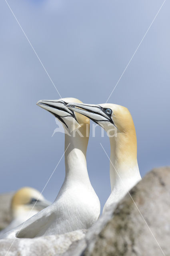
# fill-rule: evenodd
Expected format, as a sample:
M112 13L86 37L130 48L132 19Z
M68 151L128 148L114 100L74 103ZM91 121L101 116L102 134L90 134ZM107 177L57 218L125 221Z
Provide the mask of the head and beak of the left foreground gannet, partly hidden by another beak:
M62 122L66 130L72 132L73 130L80 128L83 124L88 124L89 119L78 113L74 113L72 109L68 109L66 105L69 102L82 103L76 98L61 98L59 100L39 100L37 105L53 114L60 122Z

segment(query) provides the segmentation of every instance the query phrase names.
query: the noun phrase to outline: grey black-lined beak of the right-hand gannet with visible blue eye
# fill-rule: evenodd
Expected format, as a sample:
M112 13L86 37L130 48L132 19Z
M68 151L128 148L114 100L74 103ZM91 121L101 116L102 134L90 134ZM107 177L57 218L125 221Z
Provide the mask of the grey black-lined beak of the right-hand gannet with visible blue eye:
M84 104L84 103L68 103L67 108L70 110L74 110L75 112L78 112L84 116L87 116L95 123L100 124L100 122L111 122L114 124L111 116L106 114L100 105L95 104ZM99 122L99 123L98 123Z

